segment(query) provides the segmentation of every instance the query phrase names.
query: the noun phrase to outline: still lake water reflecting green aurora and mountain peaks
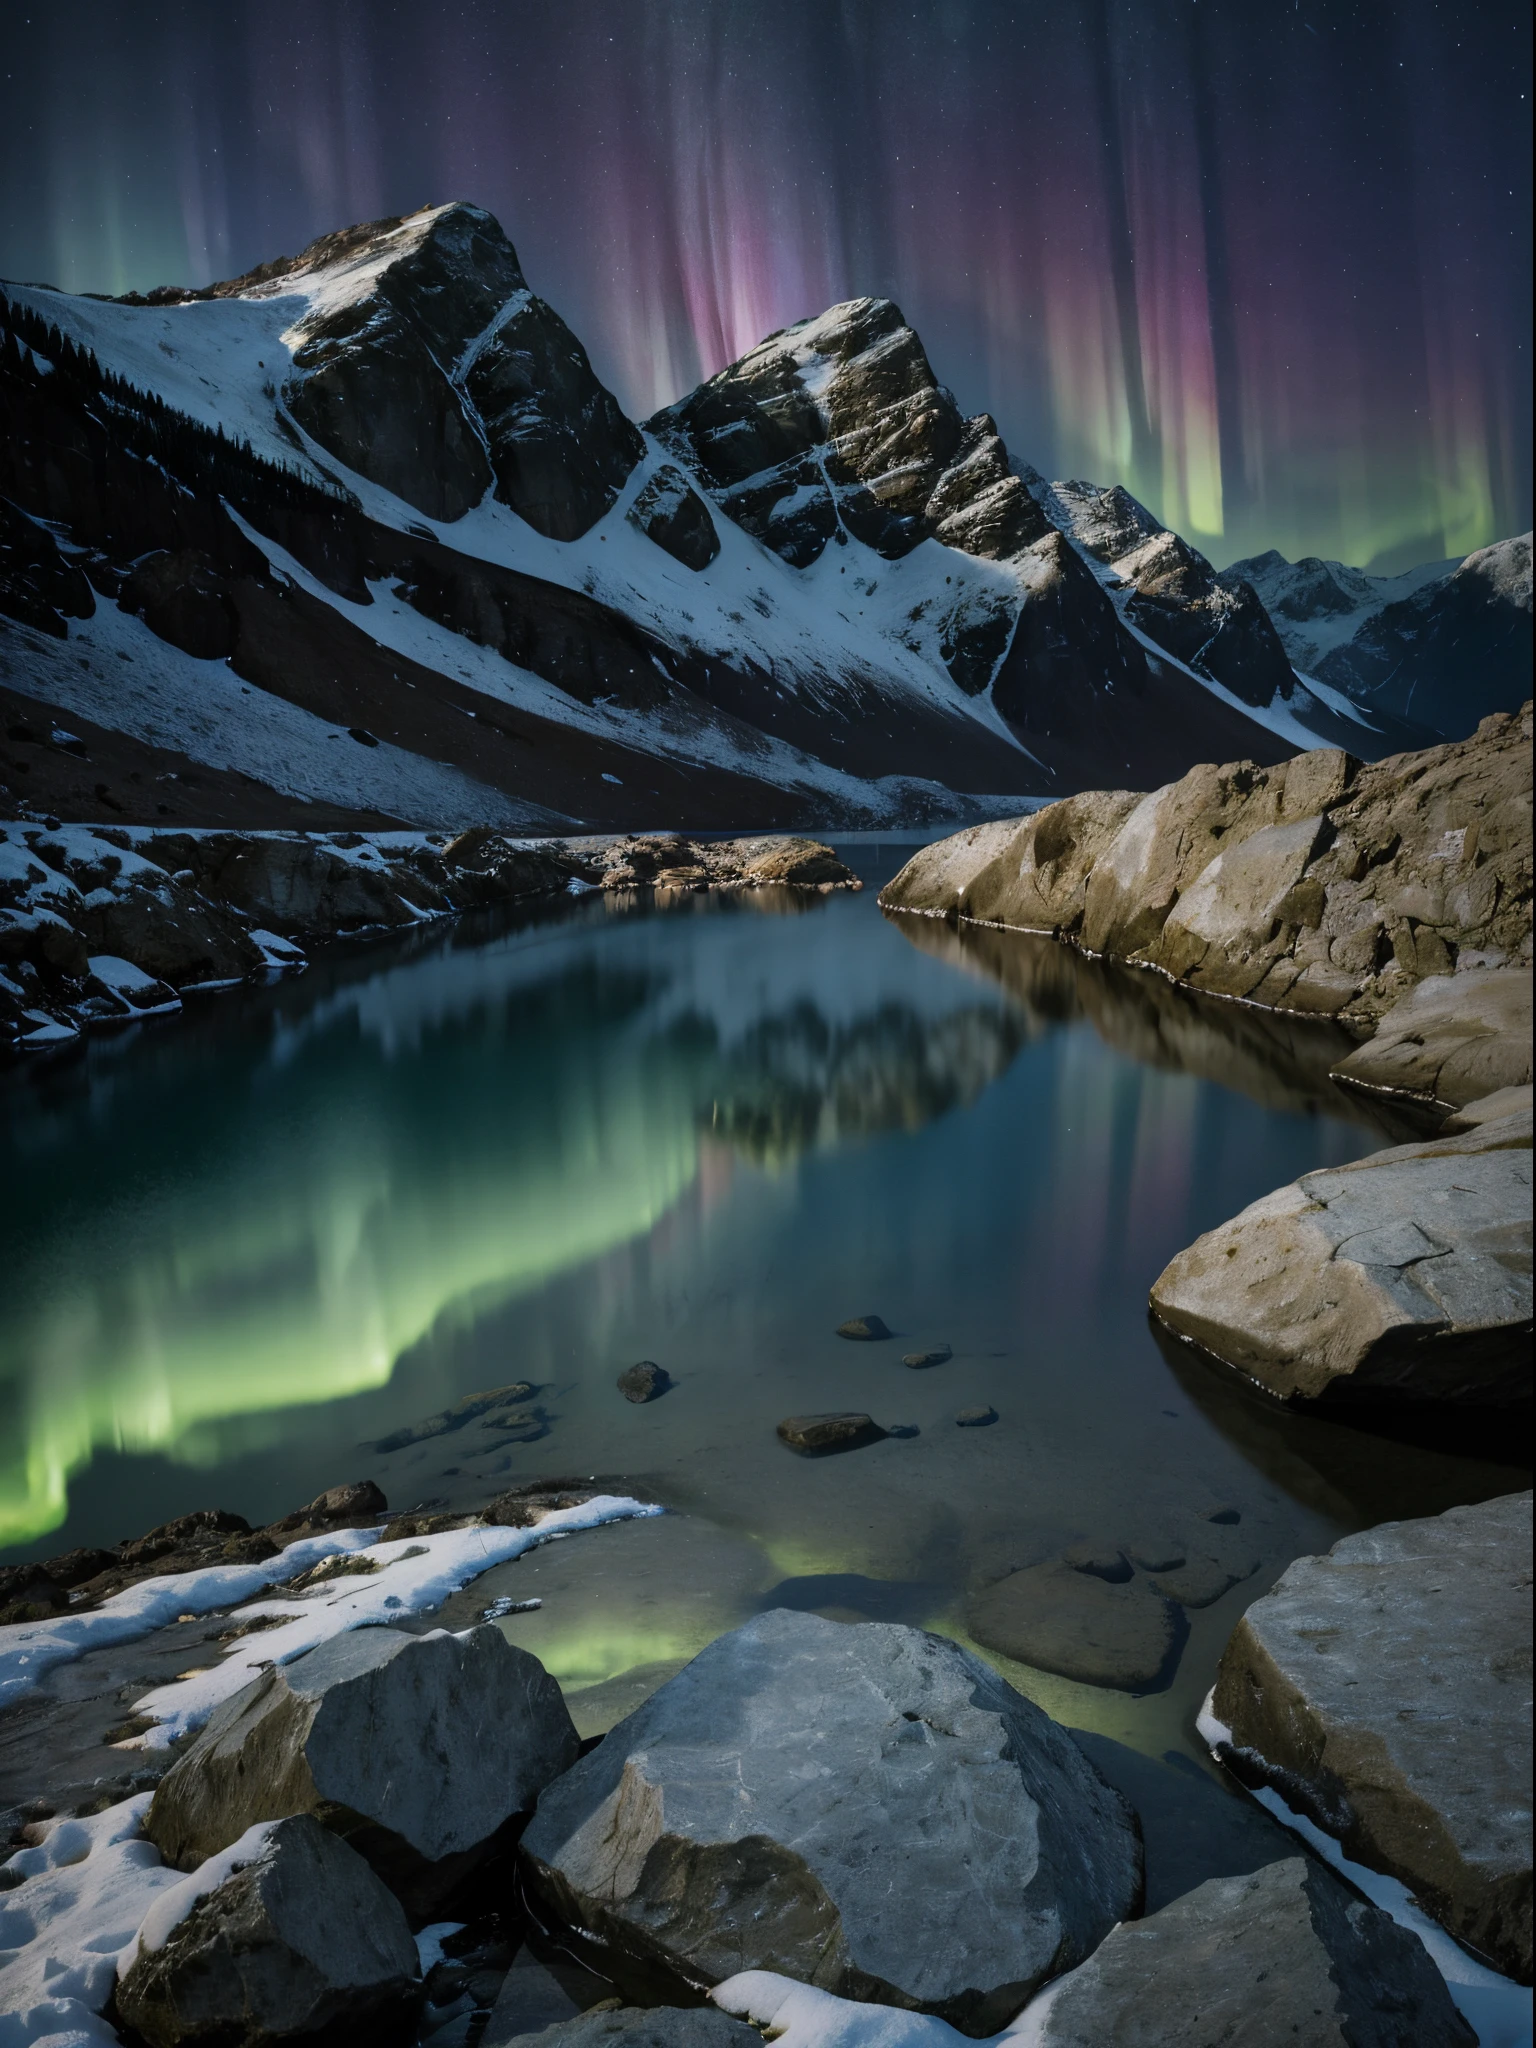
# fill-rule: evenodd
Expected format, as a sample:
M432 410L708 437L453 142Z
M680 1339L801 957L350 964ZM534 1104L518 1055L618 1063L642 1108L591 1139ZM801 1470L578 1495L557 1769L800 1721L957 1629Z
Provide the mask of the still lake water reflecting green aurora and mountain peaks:
M1227 1503L1260 1569L1192 1612L1171 1686L1004 1661L1073 1726L1196 1757L1221 1645L1292 1556L1528 1483L1284 1415L1149 1327L1196 1233L1391 1141L1329 1087L1327 1028L887 920L909 848L846 852L862 895L463 920L0 1077L4 1554L365 1475L395 1507L635 1481L680 1513L492 1587L545 1597L508 1630L600 1720L764 1604L965 1638L1008 1567ZM834 1335L870 1311L895 1341ZM633 1407L641 1358L674 1389ZM360 1448L514 1380L537 1442ZM997 1421L956 1427L975 1405ZM829 1409L905 1434L778 1444Z

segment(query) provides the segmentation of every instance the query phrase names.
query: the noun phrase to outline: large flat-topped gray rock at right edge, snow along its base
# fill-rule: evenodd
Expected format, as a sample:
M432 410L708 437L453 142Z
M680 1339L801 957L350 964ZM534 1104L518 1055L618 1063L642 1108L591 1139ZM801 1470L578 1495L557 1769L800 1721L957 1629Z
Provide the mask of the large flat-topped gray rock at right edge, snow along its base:
M1303 1556L1221 1659L1233 1763L1532 1976L1532 1497Z

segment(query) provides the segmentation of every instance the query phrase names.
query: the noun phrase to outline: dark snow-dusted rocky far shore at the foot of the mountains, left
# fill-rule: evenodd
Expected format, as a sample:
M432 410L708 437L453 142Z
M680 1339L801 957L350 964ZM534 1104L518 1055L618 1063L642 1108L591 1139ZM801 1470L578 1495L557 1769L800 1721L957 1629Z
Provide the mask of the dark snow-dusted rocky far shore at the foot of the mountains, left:
M313 942L588 889L862 887L819 840L0 823L0 1059L293 973Z

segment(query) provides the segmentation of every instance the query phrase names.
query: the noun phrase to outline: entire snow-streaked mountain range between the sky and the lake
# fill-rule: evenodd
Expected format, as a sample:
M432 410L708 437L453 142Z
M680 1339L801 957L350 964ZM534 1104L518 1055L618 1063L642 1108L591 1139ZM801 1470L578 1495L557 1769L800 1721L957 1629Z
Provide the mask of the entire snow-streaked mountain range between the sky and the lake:
M469 205L203 291L0 287L0 418L23 815L961 819L1470 729L1503 670L1458 686L1446 621L1503 647L1522 604L1497 549L1380 604L1337 565L1217 571L1124 489L1010 461L885 299L639 426ZM1315 571L1372 586L1352 639L1323 647ZM1403 692L1419 602L1438 680Z

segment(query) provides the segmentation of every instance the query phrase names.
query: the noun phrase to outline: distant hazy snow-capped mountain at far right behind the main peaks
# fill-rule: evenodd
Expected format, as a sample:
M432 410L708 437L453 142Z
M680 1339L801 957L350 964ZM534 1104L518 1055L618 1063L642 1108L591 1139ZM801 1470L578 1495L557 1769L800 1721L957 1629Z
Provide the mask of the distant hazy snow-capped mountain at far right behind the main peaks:
M1227 575L1257 590L1309 682L1460 739L1530 696L1530 541L1497 541L1403 575L1368 575L1317 555L1286 561L1272 549L1235 561Z

